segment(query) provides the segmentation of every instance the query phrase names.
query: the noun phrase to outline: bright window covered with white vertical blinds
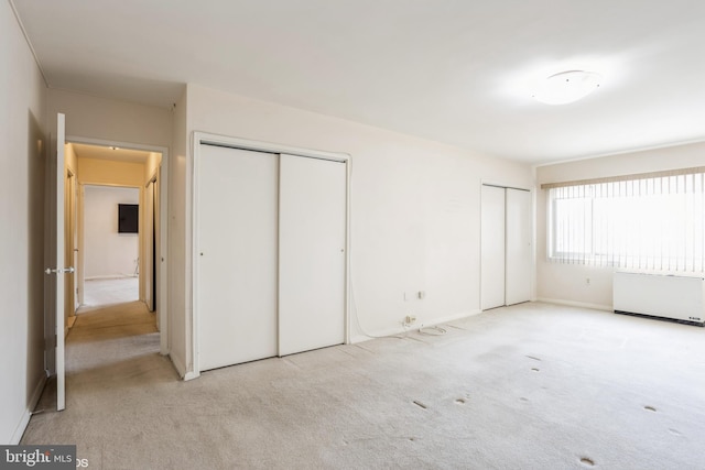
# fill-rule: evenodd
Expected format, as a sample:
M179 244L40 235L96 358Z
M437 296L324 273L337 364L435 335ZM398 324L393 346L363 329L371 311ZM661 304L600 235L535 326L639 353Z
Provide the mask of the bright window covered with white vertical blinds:
M703 168L549 189L552 261L660 272L703 272Z

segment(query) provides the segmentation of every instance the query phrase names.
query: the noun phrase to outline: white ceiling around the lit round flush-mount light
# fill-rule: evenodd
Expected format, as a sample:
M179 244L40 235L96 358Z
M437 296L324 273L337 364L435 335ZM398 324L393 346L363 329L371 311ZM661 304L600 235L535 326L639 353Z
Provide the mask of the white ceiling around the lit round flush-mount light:
M11 0L48 85L185 83L544 163L705 140L702 0ZM560 107L532 83L604 76Z

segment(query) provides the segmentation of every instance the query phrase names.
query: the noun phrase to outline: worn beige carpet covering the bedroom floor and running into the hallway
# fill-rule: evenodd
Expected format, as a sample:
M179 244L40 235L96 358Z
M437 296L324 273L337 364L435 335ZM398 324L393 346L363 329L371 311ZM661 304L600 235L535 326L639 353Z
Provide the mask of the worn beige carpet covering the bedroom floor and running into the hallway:
M130 315L78 318L67 409L23 444L90 469L705 468L703 328L522 304L181 382Z

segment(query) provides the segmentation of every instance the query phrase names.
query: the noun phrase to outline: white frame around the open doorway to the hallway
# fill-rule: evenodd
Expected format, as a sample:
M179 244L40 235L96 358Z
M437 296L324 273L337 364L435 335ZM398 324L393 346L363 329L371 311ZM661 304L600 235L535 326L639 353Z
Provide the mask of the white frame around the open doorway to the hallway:
M166 292L169 283L166 282L166 276L169 275L169 259L166 258L166 253L169 253L169 171L170 171L170 154L169 147L160 146L160 145L144 145L132 142L124 141L113 141L113 140L105 140L105 139L93 139L85 138L80 135L66 135L66 143L78 143L86 145L98 145L98 146L119 146L121 149L129 150L139 150L143 152L154 152L162 154L162 161L160 162L160 166L156 168L158 177L160 181L160 258L161 263L159 267L159 292L158 292L158 315L159 315L159 325L160 325L160 353L162 356L167 356L171 349L171 342L169 338L169 315L167 315L167 306L169 306L169 293ZM87 183L89 184L89 183ZM79 228L82 229L82 228ZM79 252L80 253L80 252Z

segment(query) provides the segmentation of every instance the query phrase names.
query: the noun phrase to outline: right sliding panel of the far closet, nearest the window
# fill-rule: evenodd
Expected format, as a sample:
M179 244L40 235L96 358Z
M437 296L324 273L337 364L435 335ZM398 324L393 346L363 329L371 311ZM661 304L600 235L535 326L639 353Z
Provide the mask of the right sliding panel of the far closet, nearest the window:
M507 305L531 299L531 193L507 188Z

